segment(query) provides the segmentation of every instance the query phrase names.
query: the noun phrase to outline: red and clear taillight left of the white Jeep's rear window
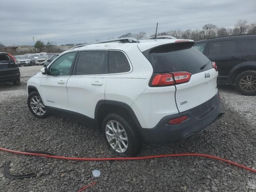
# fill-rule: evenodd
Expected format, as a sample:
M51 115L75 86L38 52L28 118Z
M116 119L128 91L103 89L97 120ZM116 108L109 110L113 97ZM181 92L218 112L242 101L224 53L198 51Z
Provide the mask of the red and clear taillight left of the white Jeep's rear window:
M152 86L170 86L189 82L191 77L190 72L180 71L171 73L160 73L153 77Z

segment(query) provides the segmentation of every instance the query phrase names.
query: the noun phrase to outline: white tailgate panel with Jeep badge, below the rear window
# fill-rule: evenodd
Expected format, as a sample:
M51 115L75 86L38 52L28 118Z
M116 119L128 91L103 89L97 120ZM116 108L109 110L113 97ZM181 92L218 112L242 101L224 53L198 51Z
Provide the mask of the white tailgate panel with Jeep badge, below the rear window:
M192 74L190 81L176 86L176 104L179 112L194 108L211 98L217 92L218 72L214 68Z

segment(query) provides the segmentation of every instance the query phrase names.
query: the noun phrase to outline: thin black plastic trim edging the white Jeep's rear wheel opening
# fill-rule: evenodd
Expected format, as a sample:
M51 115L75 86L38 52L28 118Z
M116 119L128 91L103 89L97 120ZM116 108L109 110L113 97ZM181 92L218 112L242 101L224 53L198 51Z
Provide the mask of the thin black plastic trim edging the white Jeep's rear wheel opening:
M125 110L128 111L128 113L132 117L133 123L135 123L135 125L139 128L139 130L142 129L142 126L140 125L140 122L137 116L135 115L134 111L132 110L132 108L124 102L113 101L113 100L99 100L98 103L96 104L95 112L94 112L94 120L95 120L96 128L98 129L101 128L100 125L98 124L98 120L100 118L99 109L102 105L112 105L112 106L118 106L118 107L124 108Z

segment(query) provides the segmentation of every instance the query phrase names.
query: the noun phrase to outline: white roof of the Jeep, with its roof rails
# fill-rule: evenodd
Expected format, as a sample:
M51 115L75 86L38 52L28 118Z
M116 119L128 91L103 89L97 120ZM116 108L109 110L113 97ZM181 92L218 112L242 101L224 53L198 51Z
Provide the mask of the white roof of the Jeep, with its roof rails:
M183 42L184 39L145 39L145 40L138 40L138 42L102 42L96 44L88 44L84 46L79 46L75 48L71 48L65 52L70 52L71 50L127 50L127 49L134 49L139 48L141 52L148 50L150 48L169 44L169 43L176 43L176 42ZM194 40L186 40L189 42L194 42Z

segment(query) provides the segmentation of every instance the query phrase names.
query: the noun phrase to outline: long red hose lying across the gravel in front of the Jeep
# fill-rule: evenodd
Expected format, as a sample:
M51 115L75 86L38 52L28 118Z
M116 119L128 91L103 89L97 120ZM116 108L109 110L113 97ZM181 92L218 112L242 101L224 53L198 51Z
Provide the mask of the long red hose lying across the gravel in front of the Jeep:
M6 151L10 153L22 154L22 155L32 155L32 156L41 156L41 157L48 157L48 158L55 158L55 159L66 159L66 160L80 160L80 161L109 161L109 160L144 160L144 159L153 159L153 158L163 158L163 157L180 157L180 156L200 156L206 158L212 158L219 161L226 162L228 164L243 168L245 170L251 171L256 173L256 169L249 168L247 166L238 164L236 162L232 162L230 160L226 160L220 157L207 155L207 154L200 154L200 153L184 153L184 154L165 154L165 155L152 155L152 156L144 156L144 157L112 157L112 158L82 158L82 157L63 157L63 156L53 156L53 155L46 155L46 154L37 154L37 153L28 153L28 152L20 152L14 151L6 148L1 148L1 151Z

